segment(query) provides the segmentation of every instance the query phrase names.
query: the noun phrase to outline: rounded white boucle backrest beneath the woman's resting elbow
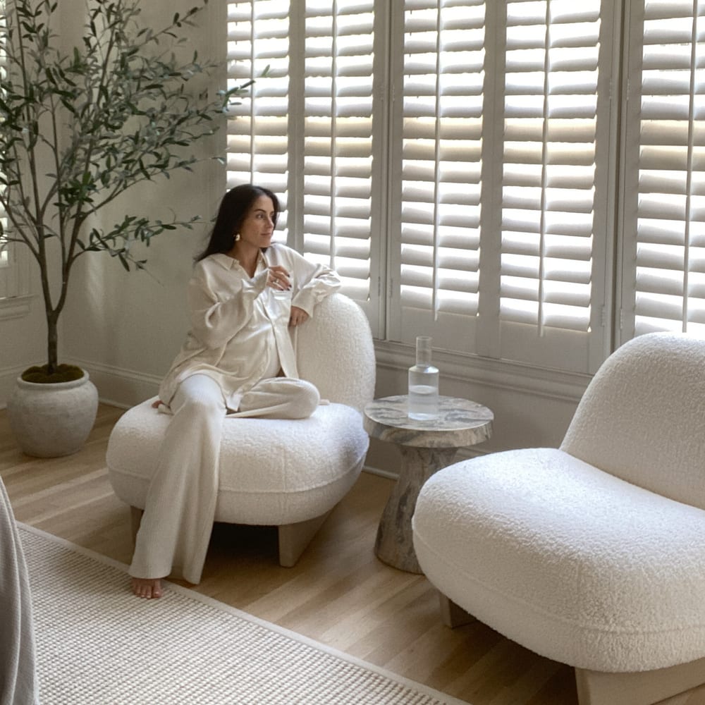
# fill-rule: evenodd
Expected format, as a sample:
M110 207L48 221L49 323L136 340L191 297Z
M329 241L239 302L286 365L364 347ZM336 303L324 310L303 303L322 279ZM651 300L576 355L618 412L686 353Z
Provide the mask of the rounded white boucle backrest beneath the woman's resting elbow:
M302 379L315 384L322 398L362 413L374 398L375 360L372 331L360 306L333 293L294 335Z

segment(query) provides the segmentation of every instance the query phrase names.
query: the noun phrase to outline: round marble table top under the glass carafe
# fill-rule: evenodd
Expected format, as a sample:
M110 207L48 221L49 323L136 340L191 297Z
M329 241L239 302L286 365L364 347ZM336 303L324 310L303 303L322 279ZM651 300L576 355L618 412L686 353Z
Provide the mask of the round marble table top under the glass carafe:
M400 446L465 448L492 435L494 414L467 399L439 397L439 416L417 421L407 415L407 396L374 399L364 407L364 429L372 438Z

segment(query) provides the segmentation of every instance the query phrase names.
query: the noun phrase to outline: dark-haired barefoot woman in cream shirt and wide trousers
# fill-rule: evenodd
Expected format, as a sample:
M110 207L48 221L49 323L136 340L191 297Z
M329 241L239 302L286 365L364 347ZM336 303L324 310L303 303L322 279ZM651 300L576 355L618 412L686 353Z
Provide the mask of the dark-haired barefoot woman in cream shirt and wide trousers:
M328 267L271 244L279 204L266 188L226 193L188 284L191 329L159 388L171 418L147 493L130 575L161 596L161 578L200 582L218 491L223 419L309 417L317 389L298 379L290 327L340 287Z

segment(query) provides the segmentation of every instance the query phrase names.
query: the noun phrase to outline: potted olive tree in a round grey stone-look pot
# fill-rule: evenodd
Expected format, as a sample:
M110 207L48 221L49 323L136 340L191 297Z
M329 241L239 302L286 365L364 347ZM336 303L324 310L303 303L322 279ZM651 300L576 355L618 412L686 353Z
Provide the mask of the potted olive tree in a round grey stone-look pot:
M205 4L170 13L153 28L140 18L138 0L87 0L80 45L64 49L56 0L5 2L0 245L29 249L47 321L47 364L25 370L8 402L13 432L30 455L78 450L96 415L97 391L87 373L57 357L75 262L87 252L107 252L128 271L142 269L135 243L149 245L155 235L193 222L128 212L103 228L94 216L145 180L190 169L196 161L190 147L214 133L247 88L209 96L214 63L202 63L184 36Z

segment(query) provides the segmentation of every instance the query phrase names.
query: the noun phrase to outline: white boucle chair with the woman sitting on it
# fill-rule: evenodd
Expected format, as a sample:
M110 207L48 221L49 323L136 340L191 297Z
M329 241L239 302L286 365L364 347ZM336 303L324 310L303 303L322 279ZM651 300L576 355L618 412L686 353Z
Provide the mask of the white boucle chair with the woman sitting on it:
M372 333L362 309L341 293L295 329L299 374L321 405L308 419L226 419L216 522L278 527L279 562L291 566L362 470L369 437L362 409L374 396ZM139 527L147 488L170 417L156 397L118 419L108 443L108 476Z

